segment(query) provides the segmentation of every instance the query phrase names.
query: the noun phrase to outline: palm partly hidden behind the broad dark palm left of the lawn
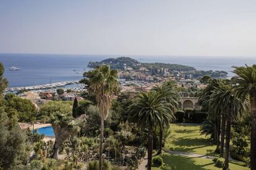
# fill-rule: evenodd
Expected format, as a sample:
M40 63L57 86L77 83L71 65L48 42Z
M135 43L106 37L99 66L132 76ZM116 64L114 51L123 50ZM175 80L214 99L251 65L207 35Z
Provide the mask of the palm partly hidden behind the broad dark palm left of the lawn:
M166 102L169 103L171 107L171 120L175 119L174 110L179 107L179 100L181 96L177 91L177 83L175 81L167 81L161 86L153 87L153 91L160 93ZM164 127L168 127L169 124L165 124ZM163 127L159 128L159 148L158 148L158 155L162 152L162 145L163 145Z

